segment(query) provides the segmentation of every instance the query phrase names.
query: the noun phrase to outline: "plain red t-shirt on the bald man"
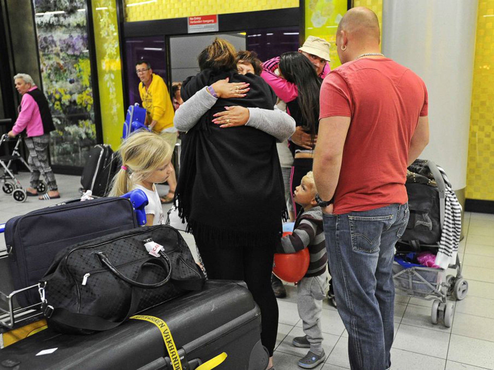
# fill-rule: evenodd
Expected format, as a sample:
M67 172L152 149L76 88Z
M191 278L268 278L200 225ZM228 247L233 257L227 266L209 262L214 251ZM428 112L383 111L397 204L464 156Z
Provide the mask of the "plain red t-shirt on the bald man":
M351 117L334 213L406 203L410 141L418 117L427 115L422 79L387 58L348 62L324 79L320 107L319 119Z

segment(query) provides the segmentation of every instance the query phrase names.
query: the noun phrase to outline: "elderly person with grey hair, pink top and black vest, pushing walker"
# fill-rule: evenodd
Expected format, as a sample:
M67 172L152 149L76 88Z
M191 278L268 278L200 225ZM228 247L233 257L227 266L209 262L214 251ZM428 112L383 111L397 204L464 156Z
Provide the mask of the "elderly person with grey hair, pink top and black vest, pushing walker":
M60 198L55 176L48 163L48 144L50 131L55 130L48 101L42 91L35 85L29 74L14 76L15 88L22 95L19 116L8 136L13 138L24 129L27 132L25 143L29 149L28 163L31 166L30 187L26 189L28 196L37 196L37 187L41 172L46 177L48 192L39 197L40 200Z

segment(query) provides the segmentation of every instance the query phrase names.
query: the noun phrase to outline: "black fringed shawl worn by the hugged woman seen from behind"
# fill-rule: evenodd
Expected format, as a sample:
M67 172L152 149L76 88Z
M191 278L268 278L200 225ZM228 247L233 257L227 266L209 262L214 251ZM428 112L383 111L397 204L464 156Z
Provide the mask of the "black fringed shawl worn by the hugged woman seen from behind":
M273 90L253 74L204 70L183 82L181 96L187 101L226 77L250 83L250 90L245 98L218 99L184 135L175 203L187 231L198 238L215 239L225 247L274 246L287 217L276 139L253 127L219 128L211 122L226 106L272 110Z

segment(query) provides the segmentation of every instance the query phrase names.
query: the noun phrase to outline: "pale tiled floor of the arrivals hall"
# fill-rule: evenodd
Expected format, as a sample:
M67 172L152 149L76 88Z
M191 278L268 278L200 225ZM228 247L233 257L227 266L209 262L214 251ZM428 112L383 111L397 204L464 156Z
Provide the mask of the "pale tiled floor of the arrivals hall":
M62 200L78 196L79 178L56 175ZM28 185L28 175L19 176ZM160 192L165 192L165 187ZM59 201L59 200L58 200ZM28 198L15 203L10 196L0 194L0 222L31 210L55 204ZM168 207L164 207L166 211ZM468 295L455 302L453 325L433 325L430 319L431 301L397 296L395 301L395 341L391 350L393 370L477 370L494 369L494 215L465 213L465 238L460 243L459 257L463 275L468 280ZM194 239L185 235L193 247ZM0 238L0 250L4 248ZM191 248L195 252L195 248ZM452 271L454 272L454 271ZM297 360L305 355L293 347L291 340L302 335L297 313L296 288L287 285L288 296L279 299L280 320L275 365L278 370L300 369ZM324 302L322 327L326 362L315 369L349 369L348 334L337 311Z

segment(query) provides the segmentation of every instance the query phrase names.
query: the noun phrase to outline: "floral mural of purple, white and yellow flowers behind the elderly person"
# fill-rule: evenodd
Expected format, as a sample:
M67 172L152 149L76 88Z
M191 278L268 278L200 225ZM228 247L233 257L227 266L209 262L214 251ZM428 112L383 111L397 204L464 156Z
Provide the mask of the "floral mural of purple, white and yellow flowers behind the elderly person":
M83 166L96 144L84 0L33 0L43 90L56 131L51 161Z

